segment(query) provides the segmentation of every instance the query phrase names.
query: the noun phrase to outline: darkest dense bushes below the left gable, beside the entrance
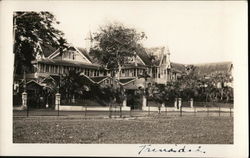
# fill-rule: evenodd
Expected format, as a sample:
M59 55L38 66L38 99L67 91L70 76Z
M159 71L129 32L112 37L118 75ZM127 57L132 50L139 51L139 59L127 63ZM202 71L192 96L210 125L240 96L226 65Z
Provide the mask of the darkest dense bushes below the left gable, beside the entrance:
M117 88L113 85L102 87L92 83L86 76L81 76L80 71L75 70L70 70L62 76L60 93L67 102L71 102L74 95L75 98L94 99L104 105L111 102L122 103L125 97L123 87Z

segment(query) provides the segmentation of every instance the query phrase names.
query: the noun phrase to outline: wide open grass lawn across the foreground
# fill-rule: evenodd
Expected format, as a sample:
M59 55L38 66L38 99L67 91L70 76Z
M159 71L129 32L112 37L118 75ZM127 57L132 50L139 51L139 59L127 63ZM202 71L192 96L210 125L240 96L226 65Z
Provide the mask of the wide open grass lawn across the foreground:
M13 117L14 143L232 144L233 117Z

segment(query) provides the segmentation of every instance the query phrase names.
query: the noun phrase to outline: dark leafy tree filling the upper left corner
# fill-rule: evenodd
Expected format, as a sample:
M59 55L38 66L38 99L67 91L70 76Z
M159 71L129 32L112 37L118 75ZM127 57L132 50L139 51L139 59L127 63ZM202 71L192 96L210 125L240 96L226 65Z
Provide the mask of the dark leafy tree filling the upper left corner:
M50 12L15 12L13 20L14 74L31 71L31 61L42 55L42 47L62 47L66 43L62 42L63 32L54 27L59 22Z

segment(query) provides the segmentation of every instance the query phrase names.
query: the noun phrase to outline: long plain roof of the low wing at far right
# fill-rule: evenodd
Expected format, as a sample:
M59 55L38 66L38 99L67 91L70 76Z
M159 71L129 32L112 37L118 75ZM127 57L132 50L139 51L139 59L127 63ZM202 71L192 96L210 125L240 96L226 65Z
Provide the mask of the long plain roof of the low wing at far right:
M214 73L229 73L232 62L194 64L194 66L198 75L211 75Z

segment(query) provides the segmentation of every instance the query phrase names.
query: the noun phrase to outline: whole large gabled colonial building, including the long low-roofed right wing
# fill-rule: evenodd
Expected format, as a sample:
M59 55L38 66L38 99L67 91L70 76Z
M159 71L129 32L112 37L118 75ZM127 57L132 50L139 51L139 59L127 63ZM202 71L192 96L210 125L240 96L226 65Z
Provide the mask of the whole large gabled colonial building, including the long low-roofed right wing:
M47 88L55 88L55 85L60 82L57 80L60 79L59 76L67 74L70 70L81 72L81 76L86 79L86 82L101 86L116 82L124 89L134 91L147 87L149 83L167 84L178 80L187 73L188 68L187 65L171 62L170 51L167 47L145 48L136 51L136 55L122 66L120 74L116 74L119 76L113 80L112 72L103 67L100 61L89 53L88 49L71 46L60 52L59 49L46 46L42 50L42 56L37 56L36 60L32 61L32 72L24 76L14 77L14 105L21 102L20 95L23 92L23 86L20 85L26 85L30 98L40 100L36 98L43 96L41 93ZM197 74L204 77L211 77L211 74L221 72L231 75L233 70L231 62L194 66ZM147 76L147 78L143 76ZM233 86L232 82L227 84ZM50 104L53 104L53 97L54 95L49 99L51 100ZM34 105L40 104L34 103Z

